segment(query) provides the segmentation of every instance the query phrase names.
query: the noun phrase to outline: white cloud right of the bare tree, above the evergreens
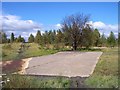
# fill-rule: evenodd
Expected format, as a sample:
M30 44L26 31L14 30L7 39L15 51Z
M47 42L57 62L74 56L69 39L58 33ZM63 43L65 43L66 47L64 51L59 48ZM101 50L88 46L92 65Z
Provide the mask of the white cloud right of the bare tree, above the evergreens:
M110 32L112 31L116 37L118 36L118 25L105 24L101 21L90 21L89 23L93 26L94 29L97 28L101 34L104 33L106 36L109 36Z

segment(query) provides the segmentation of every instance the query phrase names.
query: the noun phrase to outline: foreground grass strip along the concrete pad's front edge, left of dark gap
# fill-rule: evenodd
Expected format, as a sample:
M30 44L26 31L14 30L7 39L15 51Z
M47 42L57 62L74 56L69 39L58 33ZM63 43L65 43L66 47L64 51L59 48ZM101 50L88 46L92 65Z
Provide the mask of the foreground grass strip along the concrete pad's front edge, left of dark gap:
M5 77L5 76L4 76ZM4 78L3 77L3 78ZM8 75L4 88L68 88L70 80L63 77L43 78L35 76ZM4 78L6 80L6 78Z

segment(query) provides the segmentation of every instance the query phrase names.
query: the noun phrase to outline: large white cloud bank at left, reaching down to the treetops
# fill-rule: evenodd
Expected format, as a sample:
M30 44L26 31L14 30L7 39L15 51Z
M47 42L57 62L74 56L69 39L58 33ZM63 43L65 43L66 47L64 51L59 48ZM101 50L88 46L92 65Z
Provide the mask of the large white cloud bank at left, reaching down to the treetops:
M15 15L2 15L0 16L0 24L2 23L2 30L5 31L10 37L13 32L16 37L21 35L27 38L32 33L36 35L37 30L41 30L41 25L32 20L22 20L19 16ZM43 31L41 31L43 33Z

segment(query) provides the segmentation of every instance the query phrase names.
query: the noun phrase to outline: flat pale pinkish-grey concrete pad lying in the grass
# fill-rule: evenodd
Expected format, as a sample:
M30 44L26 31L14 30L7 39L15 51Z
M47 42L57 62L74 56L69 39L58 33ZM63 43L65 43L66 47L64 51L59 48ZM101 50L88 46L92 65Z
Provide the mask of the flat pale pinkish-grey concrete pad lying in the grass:
M53 55L34 57L29 61L25 74L67 77L88 77L102 52L59 52Z

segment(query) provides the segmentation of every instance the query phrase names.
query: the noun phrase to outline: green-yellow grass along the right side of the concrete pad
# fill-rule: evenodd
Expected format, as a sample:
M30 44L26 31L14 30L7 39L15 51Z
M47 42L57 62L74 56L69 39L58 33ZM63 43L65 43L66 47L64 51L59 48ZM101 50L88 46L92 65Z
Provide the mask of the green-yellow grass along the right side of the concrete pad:
M118 48L103 49L94 73L85 80L91 88L118 88Z

